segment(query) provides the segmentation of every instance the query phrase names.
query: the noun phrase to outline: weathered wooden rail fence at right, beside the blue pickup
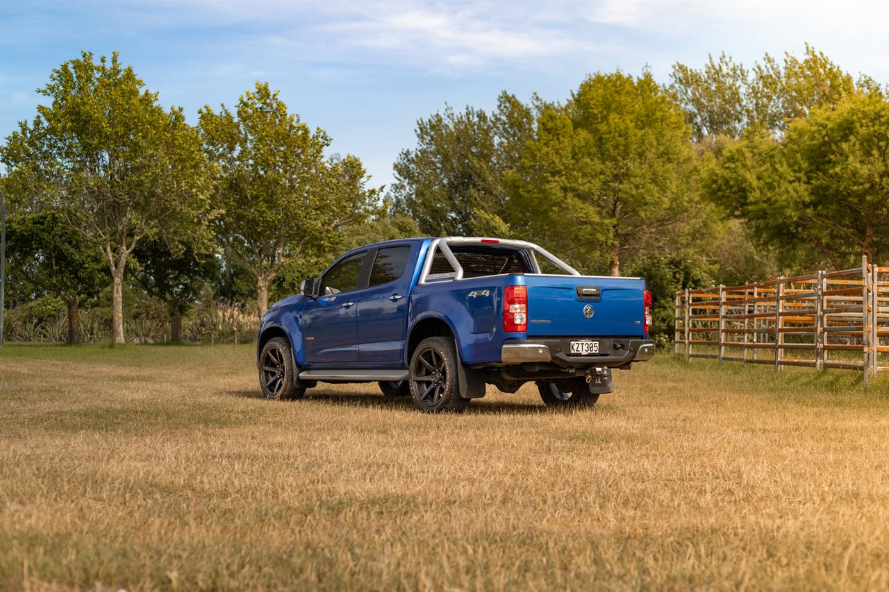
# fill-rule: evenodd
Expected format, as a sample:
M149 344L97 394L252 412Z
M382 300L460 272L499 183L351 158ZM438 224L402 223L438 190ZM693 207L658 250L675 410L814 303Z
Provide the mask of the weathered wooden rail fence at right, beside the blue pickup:
M676 293L677 354L864 373L889 371L889 268Z

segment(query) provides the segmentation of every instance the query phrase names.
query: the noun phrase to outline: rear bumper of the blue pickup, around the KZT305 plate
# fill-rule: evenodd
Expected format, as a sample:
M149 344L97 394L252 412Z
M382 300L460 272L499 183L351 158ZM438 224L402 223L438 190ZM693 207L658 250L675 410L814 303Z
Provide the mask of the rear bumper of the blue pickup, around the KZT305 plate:
M570 356L570 337L533 340L507 340L501 348L502 364L551 362L566 368L588 366L616 367L630 362L645 362L654 357L654 340L612 339L599 341L602 353L595 356Z

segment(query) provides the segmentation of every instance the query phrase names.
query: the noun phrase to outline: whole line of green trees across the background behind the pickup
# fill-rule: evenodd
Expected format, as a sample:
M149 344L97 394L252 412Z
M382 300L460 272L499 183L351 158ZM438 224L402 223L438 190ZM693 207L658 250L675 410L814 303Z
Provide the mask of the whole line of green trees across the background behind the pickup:
M598 72L564 102L444 106L381 189L357 156L324 156L328 135L268 83L195 126L117 54L84 52L38 92L0 148L7 306L26 333L67 316L71 342L82 308L103 311L85 337L117 343L159 339L140 319L177 341L183 318L255 317L343 250L401 236L521 237L644 276L664 336L685 287L889 262L889 87L809 46L752 68L677 63L669 84ZM201 331L184 337L215 339Z

